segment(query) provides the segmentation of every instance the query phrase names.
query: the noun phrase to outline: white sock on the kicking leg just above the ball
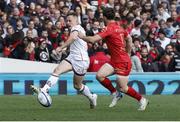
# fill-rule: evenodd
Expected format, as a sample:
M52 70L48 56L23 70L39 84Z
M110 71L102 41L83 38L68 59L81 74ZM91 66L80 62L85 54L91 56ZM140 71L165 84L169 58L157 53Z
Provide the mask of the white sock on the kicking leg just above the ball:
M58 76L51 75L41 90L48 92L49 89L57 83L58 79L59 79Z

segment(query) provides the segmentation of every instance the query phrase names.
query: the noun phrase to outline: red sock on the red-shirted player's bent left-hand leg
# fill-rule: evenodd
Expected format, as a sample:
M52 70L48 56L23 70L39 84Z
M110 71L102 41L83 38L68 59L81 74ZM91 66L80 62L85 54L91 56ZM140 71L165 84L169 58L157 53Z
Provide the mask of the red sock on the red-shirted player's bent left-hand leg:
M112 85L111 81L108 78L105 78L102 82L100 82L105 88L107 88L111 93L114 93L116 89Z

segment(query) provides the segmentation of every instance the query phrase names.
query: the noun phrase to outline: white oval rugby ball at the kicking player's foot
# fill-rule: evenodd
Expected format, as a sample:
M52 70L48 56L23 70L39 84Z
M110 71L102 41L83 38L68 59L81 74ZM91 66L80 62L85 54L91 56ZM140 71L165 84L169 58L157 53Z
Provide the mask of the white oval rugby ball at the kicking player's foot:
M52 104L51 96L46 92L40 92L37 96L39 103L44 107L50 107Z

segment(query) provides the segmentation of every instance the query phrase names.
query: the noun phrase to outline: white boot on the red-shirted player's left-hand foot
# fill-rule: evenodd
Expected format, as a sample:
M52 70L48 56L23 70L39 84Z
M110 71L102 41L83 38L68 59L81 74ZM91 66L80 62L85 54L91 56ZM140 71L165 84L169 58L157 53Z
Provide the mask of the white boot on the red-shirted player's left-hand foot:
M117 104L117 102L123 97L122 93L119 91L112 93L112 96L112 102L109 105L110 108L114 107Z

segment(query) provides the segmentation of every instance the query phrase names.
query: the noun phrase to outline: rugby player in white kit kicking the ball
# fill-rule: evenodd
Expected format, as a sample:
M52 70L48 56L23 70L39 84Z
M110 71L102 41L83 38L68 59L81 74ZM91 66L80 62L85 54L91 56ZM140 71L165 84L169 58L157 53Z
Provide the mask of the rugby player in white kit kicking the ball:
M89 56L87 52L87 43L78 37L78 32L85 34L85 30L78 24L78 18L75 13L69 13L67 15L67 25L71 29L70 36L62 46L56 49L56 51L57 53L61 52L64 48L70 46L69 56L62 60L54 69L44 87L38 88L31 85L31 89L35 93L39 93L40 91L48 92L49 89L57 83L61 74L73 71L74 88L86 96L90 101L90 108L94 108L97 104L97 95L92 94L88 86L82 83L84 75L89 67Z

